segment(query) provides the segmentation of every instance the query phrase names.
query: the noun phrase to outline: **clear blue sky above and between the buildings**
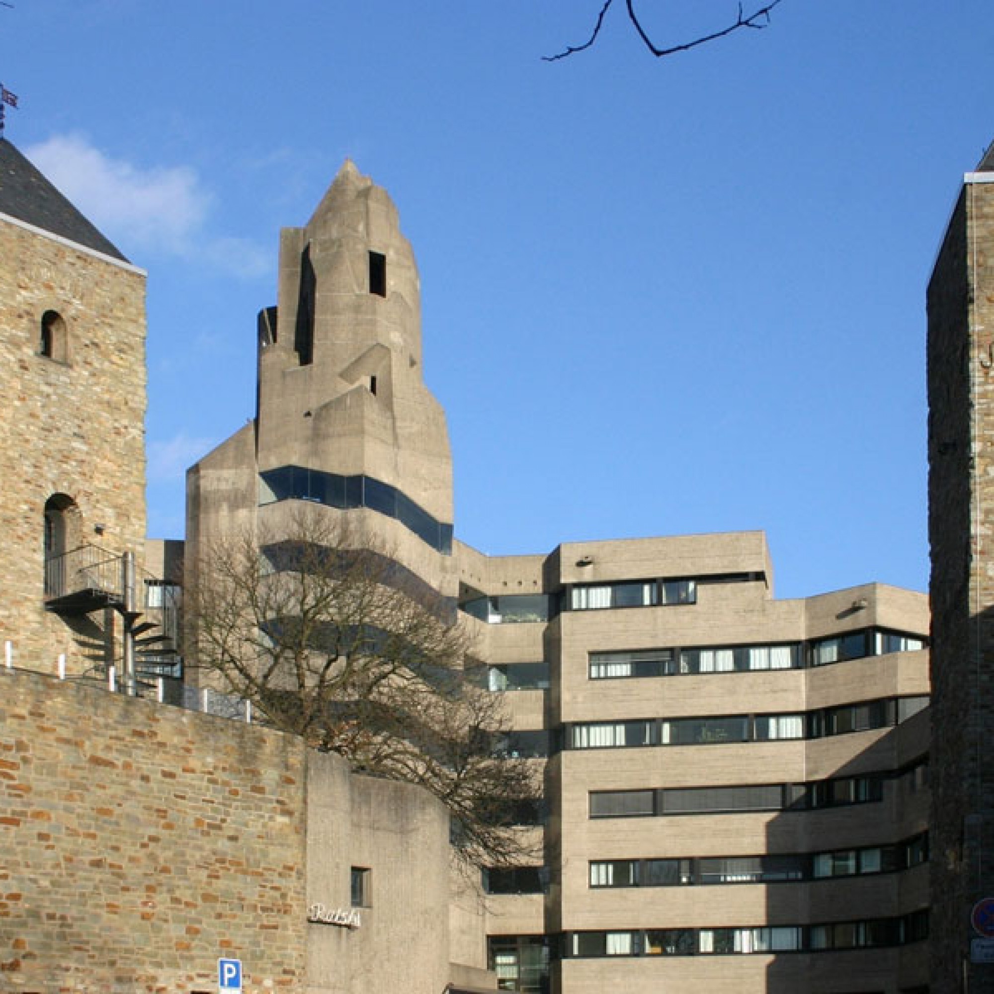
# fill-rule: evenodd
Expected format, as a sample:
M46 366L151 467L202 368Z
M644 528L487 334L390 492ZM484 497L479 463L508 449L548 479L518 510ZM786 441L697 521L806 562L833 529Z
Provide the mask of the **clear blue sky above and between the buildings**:
M557 64L600 0L14 2L7 137L149 273L152 535L350 156L414 245L463 541L764 529L780 596L926 587L924 287L994 138L990 0L782 0L662 61L618 0Z

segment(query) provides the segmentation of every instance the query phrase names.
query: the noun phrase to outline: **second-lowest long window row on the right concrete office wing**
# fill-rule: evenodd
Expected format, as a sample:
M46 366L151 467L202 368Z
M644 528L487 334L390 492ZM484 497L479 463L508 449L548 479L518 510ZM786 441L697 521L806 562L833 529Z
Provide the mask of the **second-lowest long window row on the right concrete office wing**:
M593 860L590 862L589 880L591 888L779 884L788 881L895 873L919 866L927 858L928 839L927 835L921 834L895 845L867 846L828 853Z

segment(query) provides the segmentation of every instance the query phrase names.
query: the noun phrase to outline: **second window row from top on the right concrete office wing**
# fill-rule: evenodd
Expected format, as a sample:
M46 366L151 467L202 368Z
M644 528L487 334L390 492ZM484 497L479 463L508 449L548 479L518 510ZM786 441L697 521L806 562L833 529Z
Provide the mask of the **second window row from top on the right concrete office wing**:
M749 673L792 670L808 666L911 652L924 647L916 635L867 628L832 638L770 645L726 645L706 648L642 649L630 652L591 652L591 680L662 677L700 673ZM806 648L806 651L802 649Z

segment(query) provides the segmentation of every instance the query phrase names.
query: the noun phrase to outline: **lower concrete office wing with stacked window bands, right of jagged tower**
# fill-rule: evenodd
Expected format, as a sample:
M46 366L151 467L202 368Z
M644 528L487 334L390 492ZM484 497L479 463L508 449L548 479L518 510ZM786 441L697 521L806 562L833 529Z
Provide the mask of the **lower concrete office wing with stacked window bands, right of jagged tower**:
M553 746L548 886L490 897L508 989L515 972L516 989L546 989L526 976L541 941L565 994L921 988L927 867L896 854L927 828L922 594L867 584L775 600L757 532L457 553L515 728ZM690 579L663 602L657 581ZM895 710L875 715L883 702ZM788 784L794 803L769 796Z

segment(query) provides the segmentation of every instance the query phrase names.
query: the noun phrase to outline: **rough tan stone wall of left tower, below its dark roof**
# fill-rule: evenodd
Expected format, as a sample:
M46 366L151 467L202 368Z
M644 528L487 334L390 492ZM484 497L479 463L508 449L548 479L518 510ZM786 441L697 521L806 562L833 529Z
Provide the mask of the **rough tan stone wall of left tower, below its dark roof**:
M145 278L0 218L0 640L50 672L102 660L105 619L47 613L45 503L79 508L74 541L141 558L145 535ZM65 362L39 354L42 315L66 323ZM96 535L100 524L103 534Z

